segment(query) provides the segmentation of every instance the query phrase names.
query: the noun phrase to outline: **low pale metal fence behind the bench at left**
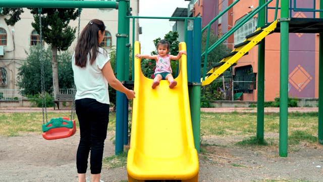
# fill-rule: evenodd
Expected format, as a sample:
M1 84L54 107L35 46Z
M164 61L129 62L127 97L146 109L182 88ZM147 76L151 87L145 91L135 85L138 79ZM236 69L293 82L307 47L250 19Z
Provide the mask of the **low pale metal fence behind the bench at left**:
M0 89L0 100L22 100L27 98L23 93L23 89ZM54 97L52 90L49 90L47 93L50 94L50 97ZM73 94L73 88L60 88L60 94Z

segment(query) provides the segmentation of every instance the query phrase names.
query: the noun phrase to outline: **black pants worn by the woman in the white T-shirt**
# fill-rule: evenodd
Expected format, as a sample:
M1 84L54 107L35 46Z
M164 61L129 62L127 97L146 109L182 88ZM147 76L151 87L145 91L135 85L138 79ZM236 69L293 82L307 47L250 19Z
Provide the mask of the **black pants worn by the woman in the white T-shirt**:
M109 108L109 104L102 104L94 99L75 101L81 135L76 154L78 173L86 173L90 151L91 174L101 173L104 140L106 139L107 123L109 122Z

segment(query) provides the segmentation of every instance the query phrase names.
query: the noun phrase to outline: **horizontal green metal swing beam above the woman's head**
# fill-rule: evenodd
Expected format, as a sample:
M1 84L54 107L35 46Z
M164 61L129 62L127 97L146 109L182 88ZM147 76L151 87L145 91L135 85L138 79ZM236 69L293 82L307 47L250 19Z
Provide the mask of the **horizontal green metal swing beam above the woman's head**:
M10 0L0 1L2 8L110 8L117 9L113 1L52 1L52 0Z

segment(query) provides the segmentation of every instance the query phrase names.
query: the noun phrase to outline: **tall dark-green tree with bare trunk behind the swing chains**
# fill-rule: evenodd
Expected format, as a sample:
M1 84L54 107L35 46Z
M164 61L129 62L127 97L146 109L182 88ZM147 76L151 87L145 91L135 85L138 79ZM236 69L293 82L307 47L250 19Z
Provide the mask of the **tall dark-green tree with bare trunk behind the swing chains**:
M32 27L40 34L39 12L38 8L28 8L33 14L34 21ZM14 26L20 20L22 8L4 8L3 13L10 18L5 21L7 25ZM58 51L66 51L75 39L76 28L69 26L71 20L78 17L78 10L72 8L43 8L41 10L41 29L43 40L51 48L51 68L53 93L59 93L59 74L58 74ZM72 84L69 86L72 87Z

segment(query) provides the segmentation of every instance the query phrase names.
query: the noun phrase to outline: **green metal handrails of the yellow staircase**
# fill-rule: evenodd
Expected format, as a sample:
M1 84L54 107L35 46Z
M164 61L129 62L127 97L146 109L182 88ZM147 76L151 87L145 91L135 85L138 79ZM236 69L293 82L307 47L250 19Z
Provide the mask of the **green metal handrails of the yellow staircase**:
M235 1L232 5L234 6L236 3L238 3L240 0ZM244 17L240 22L238 22L235 26L233 26L232 29L230 29L228 32L226 32L221 38L219 38L218 41L213 43L210 47L208 47L208 37L206 39L206 47L205 51L202 53L201 56L204 56L204 67L203 67L203 80L205 80L205 74L206 74L206 62L207 62L207 55L210 54L214 49L216 49L222 42L224 42L229 36L231 36L236 30L238 30L242 25L244 25L247 21L249 21L252 17L254 17L257 13L259 13L263 8L267 7L268 4L273 2L273 0L268 0L264 5L261 7L256 7L254 10L252 10L249 14L247 14L246 17ZM232 6L229 6L232 8ZM210 26L212 23L214 23L216 20L218 20L224 13L226 13L230 8L227 8L224 12L220 13L216 18L214 18L210 23L202 29L203 31L207 28L208 29L208 36L210 31ZM221 15L221 16L220 16Z

